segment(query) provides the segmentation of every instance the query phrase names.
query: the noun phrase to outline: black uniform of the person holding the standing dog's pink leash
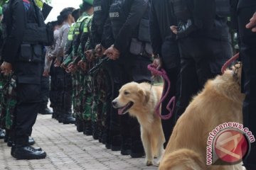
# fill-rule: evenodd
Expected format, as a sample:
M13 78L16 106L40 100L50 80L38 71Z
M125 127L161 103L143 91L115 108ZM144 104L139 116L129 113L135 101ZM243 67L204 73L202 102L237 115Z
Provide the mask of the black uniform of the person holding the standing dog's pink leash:
M151 0L151 10L149 15L150 37L151 45L153 48L154 56L159 55L162 60L163 68L165 69L171 81L171 91L169 96L163 101L161 105L161 114L166 115L169 113L166 106L170 98L176 96L178 98L179 81L179 65L180 56L178 52L178 42L176 42L176 35L171 33L170 26L176 26L176 18L171 15L171 4L169 0ZM165 82L167 83L167 82ZM167 90L165 86L164 93ZM169 120L162 120L166 147L171 131L175 125L175 116Z

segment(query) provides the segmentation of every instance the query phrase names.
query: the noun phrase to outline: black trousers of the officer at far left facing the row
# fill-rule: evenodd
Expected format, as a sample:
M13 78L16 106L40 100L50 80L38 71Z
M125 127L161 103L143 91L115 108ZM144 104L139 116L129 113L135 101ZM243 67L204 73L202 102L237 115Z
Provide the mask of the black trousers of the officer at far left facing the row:
M14 141L28 145L28 137L40 108L41 63L18 62L15 66L17 104L14 113Z

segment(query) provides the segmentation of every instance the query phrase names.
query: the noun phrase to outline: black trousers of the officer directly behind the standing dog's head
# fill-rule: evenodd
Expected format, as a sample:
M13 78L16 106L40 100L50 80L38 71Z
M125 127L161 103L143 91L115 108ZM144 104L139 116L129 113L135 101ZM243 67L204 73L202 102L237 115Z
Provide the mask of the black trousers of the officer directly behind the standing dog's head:
M113 99L119 94L119 89L131 81L136 81L141 83L144 81L149 82L151 74L147 69L147 65L151 61L148 57L129 55L122 58L120 61L116 61L114 72L114 89L113 89ZM117 115L117 120L119 118L119 129L122 136L122 147L126 147L130 141L131 150L133 153L144 152L142 145L140 126L136 118L131 118L128 114L119 116L117 110L112 110L112 115ZM118 123L118 122L117 122ZM111 124L118 125L117 123ZM116 126L118 127L118 126Z

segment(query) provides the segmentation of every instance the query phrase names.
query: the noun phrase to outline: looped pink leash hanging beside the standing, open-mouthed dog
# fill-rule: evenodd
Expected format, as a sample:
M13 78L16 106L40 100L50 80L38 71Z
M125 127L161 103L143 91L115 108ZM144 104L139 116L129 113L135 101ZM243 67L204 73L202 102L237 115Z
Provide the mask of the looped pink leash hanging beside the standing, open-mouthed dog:
M166 109L169 111L169 113L167 115L161 115L160 106L161 106L161 103L165 100L165 98L169 94L169 91L171 89L171 81L170 81L169 77L167 76L166 71L164 69L160 69L160 70L156 69L156 66L154 66L154 64L149 64L148 69L154 75L161 76L161 77L163 77L163 79L165 79L167 81L167 86L168 86L167 91L165 94L164 93L162 94L161 99L160 99L159 103L157 103L155 110L156 110L156 114L159 115L161 119L168 120L169 118L171 118L171 116L174 113L174 108L175 108L175 103L176 103L175 96L173 96L171 98L171 100L169 101L169 103L166 106ZM164 89L165 89L165 86L166 86L166 84L164 83ZM172 104L172 108L170 108L171 104Z

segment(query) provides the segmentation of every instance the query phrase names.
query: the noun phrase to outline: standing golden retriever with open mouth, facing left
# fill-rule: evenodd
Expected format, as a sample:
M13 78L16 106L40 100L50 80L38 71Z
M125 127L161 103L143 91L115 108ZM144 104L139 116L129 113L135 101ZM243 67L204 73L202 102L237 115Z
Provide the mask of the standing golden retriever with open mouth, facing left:
M154 157L161 158L164 152L164 132L161 118L155 113L156 104L161 98L162 86L152 86L148 83L131 82L122 86L119 96L112 101L118 114L129 115L138 119L141 127L141 137L146 153L146 165L152 165Z

